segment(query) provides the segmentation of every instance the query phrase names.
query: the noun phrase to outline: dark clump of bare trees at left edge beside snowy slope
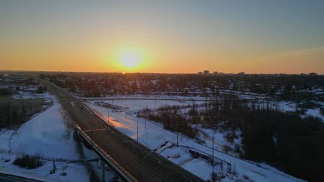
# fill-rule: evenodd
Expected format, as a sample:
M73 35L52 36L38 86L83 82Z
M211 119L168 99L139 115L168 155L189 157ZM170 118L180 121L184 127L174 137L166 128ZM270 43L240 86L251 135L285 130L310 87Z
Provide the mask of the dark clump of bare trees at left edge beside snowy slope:
M0 128L8 128L24 123L28 118L28 111L32 110L31 105L8 103L0 104Z

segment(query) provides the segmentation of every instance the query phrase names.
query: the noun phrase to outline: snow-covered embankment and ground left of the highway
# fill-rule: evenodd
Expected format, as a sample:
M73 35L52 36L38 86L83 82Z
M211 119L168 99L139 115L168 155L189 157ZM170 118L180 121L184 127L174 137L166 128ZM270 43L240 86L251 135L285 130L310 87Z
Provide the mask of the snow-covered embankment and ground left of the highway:
M89 169L82 161L98 159L98 156L82 144L84 157L81 159L78 154L78 144L73 139L73 130L66 127L64 112L57 99L47 93L37 94L37 96L24 94L23 97L42 97L53 101L53 105L22 124L17 131L0 130L0 172L34 176L48 181L89 181ZM41 154L48 160L34 170L20 168L12 163L21 151L32 156ZM51 160L56 161L55 174L50 174L50 170L53 169ZM92 165L95 168L100 166L97 162L92 162ZM62 172L66 172L66 176L61 175ZM114 177L111 172L106 173L109 178Z

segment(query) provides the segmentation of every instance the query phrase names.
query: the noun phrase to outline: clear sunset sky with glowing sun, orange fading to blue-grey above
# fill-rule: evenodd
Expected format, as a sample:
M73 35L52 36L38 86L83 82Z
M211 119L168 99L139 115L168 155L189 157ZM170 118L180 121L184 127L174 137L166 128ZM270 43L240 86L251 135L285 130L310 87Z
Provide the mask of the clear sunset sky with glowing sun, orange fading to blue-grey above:
M0 0L0 70L324 74L323 20L322 0Z

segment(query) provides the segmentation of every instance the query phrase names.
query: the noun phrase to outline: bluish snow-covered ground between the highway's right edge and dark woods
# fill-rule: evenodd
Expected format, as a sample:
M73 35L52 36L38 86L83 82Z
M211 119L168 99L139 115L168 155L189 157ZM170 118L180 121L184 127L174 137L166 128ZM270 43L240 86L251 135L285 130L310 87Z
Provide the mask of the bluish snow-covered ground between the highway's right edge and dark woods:
M115 128L132 137L132 139L138 139L138 141L143 143L143 145L146 145L151 150L156 150L156 152L165 156L165 158L174 163L177 163L178 165L181 165L182 168L185 168L193 174L196 174L197 176L201 177L201 179L210 179L212 174L212 165L210 165L210 163L208 163L208 161L206 161L205 159L192 158L189 152L190 148L195 148L195 151L211 156L213 150L211 148L212 142L210 139L206 139L206 143L204 145L201 145L194 140L179 134L179 145L182 146L179 146L178 148L177 133L164 130L162 125L159 123L154 123L153 121L147 121L145 119L136 117L135 112L137 112L138 109L145 108L146 105L147 108L154 109L154 100L115 100L114 103L112 103L113 101L103 101L114 105L120 104L120 106L123 107L126 105L127 108L129 108L127 110L127 114L125 113L125 110L111 110L108 108L103 108L101 106L93 105L93 101L91 102L92 105L90 102L86 103L86 105L88 105L89 108L92 108L95 114L97 113L96 110L98 109L99 117L101 117L109 125L114 125ZM185 105L188 105L190 103L190 101L188 103L186 102L187 101L185 101L184 103ZM182 105L183 103L179 103L178 101L157 101L156 108L159 107L158 105L165 104ZM137 126L138 136L136 132ZM212 130L204 130L204 132L207 134L207 136L209 136L209 138L213 133ZM225 143L224 136L217 132L215 132L215 134L215 148L221 149L222 145L224 145ZM236 142L240 143L240 141ZM166 145L161 147L163 143L166 143ZM224 179L222 179L222 181L249 181L249 179L253 181L300 181L293 176L289 176L284 172L280 172L275 168L271 168L269 165L262 164L261 168L251 161L244 161L242 159L236 158L235 156L230 156L217 150L215 150L214 152L217 160L220 159L222 161L225 161L222 171L221 163L218 163L215 166L215 172L217 172L217 175L224 175ZM226 163L231 163L232 172L229 172L227 170L226 166L228 165ZM233 173L233 171L235 173Z

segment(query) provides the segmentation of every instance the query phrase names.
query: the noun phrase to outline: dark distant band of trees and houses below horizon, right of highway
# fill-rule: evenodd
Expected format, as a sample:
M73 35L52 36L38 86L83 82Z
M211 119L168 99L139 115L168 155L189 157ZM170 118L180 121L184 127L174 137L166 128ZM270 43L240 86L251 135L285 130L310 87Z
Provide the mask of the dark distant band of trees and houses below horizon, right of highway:
M184 96L213 96L220 90L253 92L278 96L281 99L322 99L312 94L314 88L324 89L323 75L297 74L118 74L75 73L40 75L71 92L84 97L108 94L176 94ZM78 90L76 89L78 88ZM303 92L300 92L303 90Z

